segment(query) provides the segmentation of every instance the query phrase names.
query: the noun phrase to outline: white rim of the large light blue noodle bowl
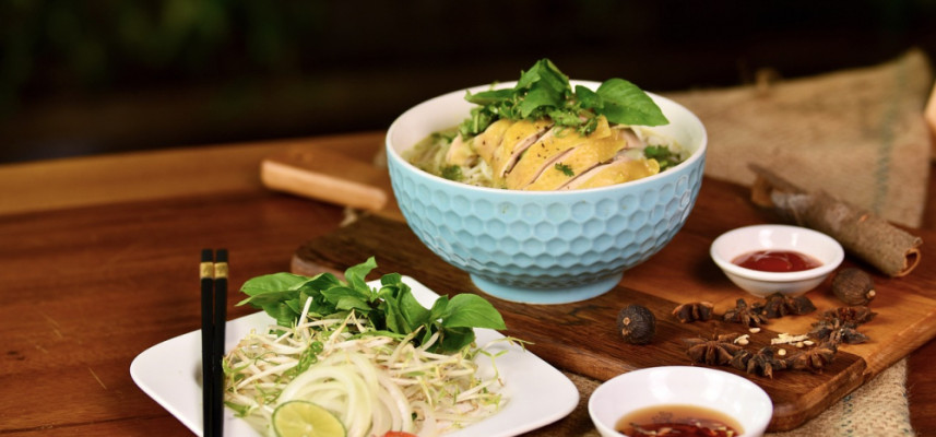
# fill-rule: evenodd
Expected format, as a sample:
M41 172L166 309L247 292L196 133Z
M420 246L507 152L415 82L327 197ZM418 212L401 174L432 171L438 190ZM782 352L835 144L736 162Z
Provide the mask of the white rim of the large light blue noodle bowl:
M585 86L590 86L592 90L594 90L599 85L601 85L601 82L584 81L584 80L570 80L569 83L573 87L576 85L585 85ZM493 88L495 88L495 90L496 88L503 88L503 87L508 87L508 86L513 86L514 84L517 84L517 81L498 82L498 83L494 84ZM692 154L686 161L683 161L682 163L677 164L676 166L666 169L666 172L660 172L653 176L640 178L637 180L630 180L630 181L627 181L624 184L616 184L616 185L611 185L611 186L605 186L605 187L585 188L585 189L580 189L580 190L566 190L566 191L558 191L558 190L525 191L525 190L506 190L506 189L493 188L493 187L478 187L478 186L474 186L474 185L470 185L470 184L463 184L463 182L457 182L454 180L449 180L449 179L446 179L443 177L439 177L439 176L433 175L430 173L427 173L420 168L417 168L415 165L413 165L408 161L404 160L403 156L401 156L400 153L396 151L396 149L394 149L393 145L390 143L390 139L393 137L393 133L395 132L395 130L400 129L401 119L406 117L411 111L416 110L416 108L418 108L423 105L428 105L435 101L439 101L442 98L450 98L454 94L463 94L465 92L477 93L481 91L491 90L491 85L493 84L488 83L485 85L476 85L476 86L471 86L471 87L466 87L466 88L452 91L452 92L449 92L446 94L435 96L435 97L429 98L427 101L423 101L423 102L414 105L413 107L406 109L403 114L401 114L399 117L396 117L396 119L393 120L393 122L390 125L390 128L387 130L387 135L384 137L384 143L386 143L386 149L388 149L388 153L387 153L388 158L394 160L395 162L398 162L403 167L408 168L411 172L416 172L418 174L425 175L426 177L428 177L430 179L435 179L439 184L445 184L445 185L448 185L450 187L460 187L462 189L467 189L467 190L493 191L493 192L500 193L501 196L550 196L550 197L555 197L555 196L576 196L577 192L581 193L583 191L596 192L596 191L603 191L603 190L620 189L620 187L635 187L635 186L639 186L639 185L651 184L655 179L664 178L664 177L671 175L672 173L675 173L678 169L691 166L692 163L695 163L699 160L703 160L706 152L708 150L708 143L709 143L708 131L706 130L706 126L704 126L704 123L702 123L702 120L699 119L699 117L695 113L692 113L691 110L689 110L689 108L680 105L679 103L677 103L671 98L663 97L659 94L651 93L648 91L644 91L644 93L647 93L651 98L653 98L654 102L657 102L657 101L666 102L667 104L674 105L677 108L682 108L682 110L686 111L687 118L689 118L690 120L694 120L695 123L699 127L699 130L700 130L699 146L696 149L695 152L692 152ZM467 117L467 116L469 115L466 114L465 117Z

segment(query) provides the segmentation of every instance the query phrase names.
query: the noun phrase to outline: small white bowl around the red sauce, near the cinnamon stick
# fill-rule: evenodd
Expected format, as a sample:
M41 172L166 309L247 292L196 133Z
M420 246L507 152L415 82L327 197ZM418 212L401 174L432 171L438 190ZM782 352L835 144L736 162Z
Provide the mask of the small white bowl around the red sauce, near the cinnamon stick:
M816 258L822 265L798 272L762 272L732 262L742 255L757 250L797 251ZM802 295L821 284L845 258L842 245L834 238L789 225L755 225L730 231L715 238L710 253L735 285L759 297L774 293Z

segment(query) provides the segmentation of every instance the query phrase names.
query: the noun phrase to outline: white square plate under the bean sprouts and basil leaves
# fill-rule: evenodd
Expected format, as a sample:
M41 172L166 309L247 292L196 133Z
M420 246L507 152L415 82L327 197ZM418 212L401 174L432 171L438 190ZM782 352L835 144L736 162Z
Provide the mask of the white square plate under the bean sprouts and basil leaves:
M425 307L431 307L438 295L410 276L403 276L413 295ZM379 286L379 281L369 283ZM225 351L232 350L250 330L263 330L275 321L257 312L227 322ZM477 344L484 345L503 335L490 329L476 329ZM522 340L522 339L521 339ZM565 417L579 403L579 391L562 373L542 358L507 342L488 347L491 353L507 350L497 357L496 366L503 380L501 392L508 401L497 414L474 425L446 434L447 437L507 437L548 425ZM485 371L490 359L478 356ZM194 434L202 435L201 333L192 331L143 351L130 365L133 381ZM259 436L246 421L225 411L226 436Z

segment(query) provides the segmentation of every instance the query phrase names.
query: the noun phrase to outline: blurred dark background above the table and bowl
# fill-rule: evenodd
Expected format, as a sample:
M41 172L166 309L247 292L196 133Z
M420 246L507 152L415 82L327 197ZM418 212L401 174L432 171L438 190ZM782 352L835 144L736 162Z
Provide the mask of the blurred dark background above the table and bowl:
M386 129L550 58L653 92L936 59L936 0L0 0L0 163Z

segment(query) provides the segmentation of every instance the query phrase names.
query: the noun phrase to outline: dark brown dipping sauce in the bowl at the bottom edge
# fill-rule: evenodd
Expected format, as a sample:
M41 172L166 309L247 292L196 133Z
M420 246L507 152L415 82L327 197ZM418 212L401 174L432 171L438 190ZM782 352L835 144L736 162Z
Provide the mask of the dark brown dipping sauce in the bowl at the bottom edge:
M656 405L624 415L614 427L630 437L736 437L744 429L734 418L696 405Z

